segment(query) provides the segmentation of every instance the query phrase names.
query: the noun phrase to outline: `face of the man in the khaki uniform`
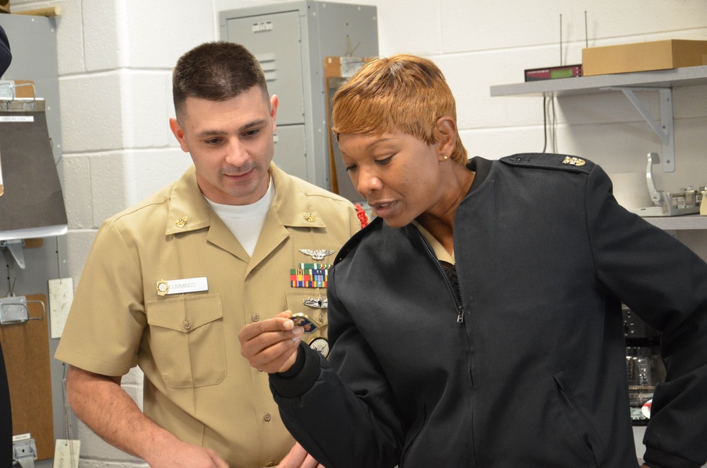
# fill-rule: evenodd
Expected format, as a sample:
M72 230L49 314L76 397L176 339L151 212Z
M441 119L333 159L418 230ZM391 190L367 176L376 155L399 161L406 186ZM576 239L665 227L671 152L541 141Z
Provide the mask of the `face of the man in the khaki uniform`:
M277 97L268 101L257 86L235 98L187 98L180 122L170 127L197 168L204 196L216 203L252 204L267 190L274 154Z

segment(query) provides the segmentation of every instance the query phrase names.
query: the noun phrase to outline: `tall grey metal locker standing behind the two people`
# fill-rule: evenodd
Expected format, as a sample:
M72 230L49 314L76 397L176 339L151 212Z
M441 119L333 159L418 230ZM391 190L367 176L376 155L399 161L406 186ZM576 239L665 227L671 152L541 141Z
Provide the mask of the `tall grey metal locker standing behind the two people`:
M377 57L375 6L293 1L219 13L221 39L259 60L279 97L274 161L331 189L325 57Z

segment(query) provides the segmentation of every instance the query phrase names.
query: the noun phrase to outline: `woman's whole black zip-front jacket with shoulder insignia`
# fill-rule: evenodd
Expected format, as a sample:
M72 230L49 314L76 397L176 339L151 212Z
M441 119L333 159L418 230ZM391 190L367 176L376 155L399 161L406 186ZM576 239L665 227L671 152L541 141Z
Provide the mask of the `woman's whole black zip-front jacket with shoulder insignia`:
M707 460L707 264L619 206L597 165L563 160L469 164L460 299L414 226L378 219L341 249L331 365L303 347L296 376L271 376L286 426L317 460L636 467L620 300L663 332L667 383L645 460Z

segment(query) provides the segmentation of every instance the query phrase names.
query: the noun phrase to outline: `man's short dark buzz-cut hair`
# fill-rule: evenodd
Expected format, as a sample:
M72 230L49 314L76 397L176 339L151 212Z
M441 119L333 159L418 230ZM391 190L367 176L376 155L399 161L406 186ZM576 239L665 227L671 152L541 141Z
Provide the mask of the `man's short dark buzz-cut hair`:
M259 86L269 104L265 75L248 49L234 42L205 42L177 61L172 94L177 119L187 98L223 101Z

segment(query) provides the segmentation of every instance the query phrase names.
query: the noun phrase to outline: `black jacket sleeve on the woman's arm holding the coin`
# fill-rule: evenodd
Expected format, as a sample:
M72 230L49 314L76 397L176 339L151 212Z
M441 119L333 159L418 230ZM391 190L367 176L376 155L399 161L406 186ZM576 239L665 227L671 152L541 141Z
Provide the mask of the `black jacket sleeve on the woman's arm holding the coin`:
M329 359L301 346L305 362L295 376L270 375L288 431L327 468L395 467L402 427L380 364L337 300L336 268L329 271ZM337 328L332 329L332 316ZM337 372L334 372L334 368ZM338 374L337 374L338 373ZM356 375L355 387L342 380Z

